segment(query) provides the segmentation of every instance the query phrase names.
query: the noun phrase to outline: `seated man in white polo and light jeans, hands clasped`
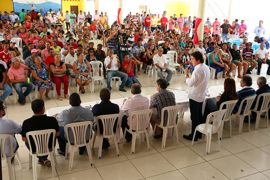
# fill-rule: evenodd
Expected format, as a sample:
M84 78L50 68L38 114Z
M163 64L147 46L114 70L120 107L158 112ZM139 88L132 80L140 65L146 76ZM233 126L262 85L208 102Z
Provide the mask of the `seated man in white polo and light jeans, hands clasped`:
M165 71L168 75L166 77L166 80L168 81L167 86L170 85L170 80L173 76L173 71L170 70L169 68L167 68L167 60L166 57L163 53L163 49L162 48L158 48L158 54L154 55L153 57L153 61L154 64L156 66L156 71L158 73L158 77L160 78L164 78L162 71Z

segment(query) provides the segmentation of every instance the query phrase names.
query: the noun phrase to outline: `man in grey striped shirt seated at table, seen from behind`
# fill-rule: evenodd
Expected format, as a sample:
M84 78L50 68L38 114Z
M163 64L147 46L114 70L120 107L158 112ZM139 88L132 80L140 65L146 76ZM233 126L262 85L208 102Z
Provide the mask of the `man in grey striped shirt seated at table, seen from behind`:
M91 121L93 122L93 113L89 108L85 108L81 106L81 99L78 93L72 93L69 96L69 104L71 107L67 110L63 110L59 114L53 115L53 117L56 118L58 122L64 122L64 126L68 125L70 123L74 122L82 122L82 121ZM65 156L66 152L66 143L67 143L67 135L65 132L65 128L63 126L59 127L60 135L57 137L59 149L57 149L57 152L60 155ZM90 132L90 125L87 128L86 131L86 142L89 142L89 139L92 135L92 132ZM68 137L70 140L70 143L74 143L74 137L73 132L70 130L68 131ZM85 150L86 146L79 147L79 154L82 155L83 151Z

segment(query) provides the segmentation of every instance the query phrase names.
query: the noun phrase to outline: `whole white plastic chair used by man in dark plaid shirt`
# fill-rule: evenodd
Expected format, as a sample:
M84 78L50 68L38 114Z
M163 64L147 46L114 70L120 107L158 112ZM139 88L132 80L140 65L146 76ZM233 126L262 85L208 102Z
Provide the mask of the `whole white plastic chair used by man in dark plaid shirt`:
M176 139L177 139L177 146L179 146L179 138L178 138L178 130L177 130L177 125L176 125L176 117L179 111L182 111L183 106L182 105L176 105L176 106L168 106L164 107L161 110L161 122L160 125L155 124L154 132L153 132L153 137L152 140L154 140L154 134L156 130L156 126L160 127L163 129L163 137L162 137L162 148L165 148L165 143L166 143L166 137L167 137L167 129L170 128L175 128L176 129ZM164 124L164 113L167 111L168 114L168 120L167 120L167 125L163 126ZM170 137L172 137L173 131L169 133Z

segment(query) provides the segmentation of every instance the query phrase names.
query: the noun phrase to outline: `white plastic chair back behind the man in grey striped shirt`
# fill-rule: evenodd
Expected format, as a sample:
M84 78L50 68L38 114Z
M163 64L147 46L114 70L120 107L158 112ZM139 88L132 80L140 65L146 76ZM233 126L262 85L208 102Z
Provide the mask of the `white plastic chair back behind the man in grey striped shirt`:
M92 133L91 130L93 127L93 123L91 121L75 122L75 123L70 123L68 125L65 125L65 131L68 132L68 130L71 129L73 133L75 147L86 146L85 138L86 138L86 131L87 131L88 125L90 125L90 137L91 137L91 133ZM67 135L67 142L70 145L68 133L66 133L66 135Z

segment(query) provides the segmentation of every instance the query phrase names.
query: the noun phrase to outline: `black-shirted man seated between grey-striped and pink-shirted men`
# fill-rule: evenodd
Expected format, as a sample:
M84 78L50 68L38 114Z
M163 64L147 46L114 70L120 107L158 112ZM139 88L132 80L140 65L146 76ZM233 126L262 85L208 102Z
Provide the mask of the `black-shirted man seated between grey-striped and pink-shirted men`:
M101 116L101 115L109 115L109 114L119 114L119 106L117 104L114 104L110 101L111 98L111 92L108 88L103 88L100 90L99 92L99 97L101 99L101 103L100 104L96 104L93 108L92 108L92 113L95 117ZM113 126L113 132L116 132L117 129L117 121L116 120L114 126ZM98 125L99 125L99 133L103 134L103 125L102 125L102 121L99 119L98 120ZM98 127L97 127L97 123L94 122L93 123L93 130L97 133L98 132ZM108 139L104 138L103 139L103 143L102 143L102 149L107 149L108 147L110 147L110 143L108 142Z

